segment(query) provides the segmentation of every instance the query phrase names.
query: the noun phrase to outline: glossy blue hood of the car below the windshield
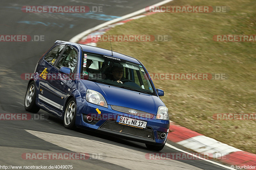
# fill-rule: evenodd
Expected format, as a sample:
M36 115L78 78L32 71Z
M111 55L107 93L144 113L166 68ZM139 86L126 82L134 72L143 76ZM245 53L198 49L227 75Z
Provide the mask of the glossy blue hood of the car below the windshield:
M84 85L91 90L100 92L108 105L129 107L156 115L159 106L165 106L157 96L135 92L111 85L82 80Z

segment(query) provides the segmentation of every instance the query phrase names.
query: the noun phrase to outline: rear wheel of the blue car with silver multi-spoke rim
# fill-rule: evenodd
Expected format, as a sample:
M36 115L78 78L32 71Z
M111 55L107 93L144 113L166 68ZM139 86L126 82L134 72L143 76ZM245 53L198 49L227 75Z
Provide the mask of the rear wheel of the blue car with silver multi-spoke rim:
M24 107L28 112L37 113L40 108L36 105L36 85L32 81L28 85L28 89L25 95Z

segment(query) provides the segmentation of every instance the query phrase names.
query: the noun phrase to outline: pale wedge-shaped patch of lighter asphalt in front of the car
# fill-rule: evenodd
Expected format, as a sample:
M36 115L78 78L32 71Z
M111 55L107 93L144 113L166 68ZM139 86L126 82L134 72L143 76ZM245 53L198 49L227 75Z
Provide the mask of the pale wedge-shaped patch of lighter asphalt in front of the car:
M46 133L34 130L26 130L30 134L43 139L44 141L58 145L76 153L101 153L102 161L116 164L129 169L191 169L201 170L195 166L177 160L152 160L146 159L145 152L136 151L130 148L108 144L101 141L73 137L67 135ZM151 152L152 153L152 152Z

